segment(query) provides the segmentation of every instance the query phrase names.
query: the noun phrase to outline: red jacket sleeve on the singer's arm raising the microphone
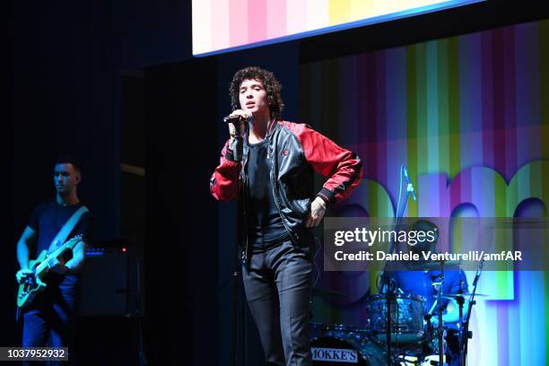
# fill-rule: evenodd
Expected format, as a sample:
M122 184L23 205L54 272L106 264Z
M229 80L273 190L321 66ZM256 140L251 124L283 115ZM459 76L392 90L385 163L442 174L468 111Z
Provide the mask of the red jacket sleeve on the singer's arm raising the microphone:
M232 161L232 151L229 141L222 148L219 165L213 171L210 179L210 192L218 201L231 201L236 198L239 190L240 162Z

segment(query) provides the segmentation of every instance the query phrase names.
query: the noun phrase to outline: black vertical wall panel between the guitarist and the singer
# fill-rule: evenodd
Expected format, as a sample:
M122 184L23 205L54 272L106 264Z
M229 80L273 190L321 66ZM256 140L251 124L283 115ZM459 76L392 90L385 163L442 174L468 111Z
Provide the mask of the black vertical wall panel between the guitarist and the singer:
M214 59L145 71L147 113L146 342L158 364L217 364L217 155ZM198 73L197 69L204 70Z

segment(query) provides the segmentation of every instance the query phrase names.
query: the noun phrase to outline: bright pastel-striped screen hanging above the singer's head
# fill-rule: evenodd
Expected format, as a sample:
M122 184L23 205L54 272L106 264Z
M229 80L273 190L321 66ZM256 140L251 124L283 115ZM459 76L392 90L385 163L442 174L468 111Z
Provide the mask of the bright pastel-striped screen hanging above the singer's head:
M480 0L193 0L193 54L383 22Z

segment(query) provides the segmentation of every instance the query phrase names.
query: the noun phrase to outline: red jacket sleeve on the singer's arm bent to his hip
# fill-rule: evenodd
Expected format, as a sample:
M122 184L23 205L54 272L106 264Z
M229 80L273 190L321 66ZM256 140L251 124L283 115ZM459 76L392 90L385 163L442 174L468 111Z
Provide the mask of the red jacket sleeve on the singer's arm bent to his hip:
M340 204L362 180L361 159L308 125L294 125L292 130L310 166L327 178L317 196L327 204Z

